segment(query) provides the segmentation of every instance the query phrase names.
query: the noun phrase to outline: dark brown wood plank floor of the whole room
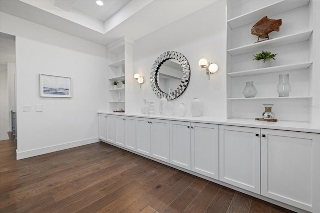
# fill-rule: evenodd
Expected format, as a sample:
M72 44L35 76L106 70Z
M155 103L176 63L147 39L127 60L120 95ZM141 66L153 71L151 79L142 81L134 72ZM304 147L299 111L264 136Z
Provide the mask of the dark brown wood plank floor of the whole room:
M1 213L291 213L102 142L18 161L15 149L0 141Z

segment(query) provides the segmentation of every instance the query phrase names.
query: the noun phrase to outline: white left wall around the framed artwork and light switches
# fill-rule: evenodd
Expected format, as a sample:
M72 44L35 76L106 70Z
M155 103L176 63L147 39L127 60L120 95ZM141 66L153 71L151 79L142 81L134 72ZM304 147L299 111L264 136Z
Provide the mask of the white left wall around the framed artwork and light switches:
M2 12L0 31L16 36L17 159L97 142L106 48ZM71 77L72 98L39 97L40 73Z

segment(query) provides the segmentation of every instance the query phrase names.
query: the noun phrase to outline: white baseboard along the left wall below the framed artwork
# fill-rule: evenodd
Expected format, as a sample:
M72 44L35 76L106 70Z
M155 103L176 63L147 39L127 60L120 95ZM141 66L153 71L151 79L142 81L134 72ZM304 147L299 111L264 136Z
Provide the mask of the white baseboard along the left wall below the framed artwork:
M20 160L23 158L30 158L33 156L43 155L43 154L47 154L50 152L56 152L56 151L69 149L69 148L73 148L73 147L78 147L78 146L82 146L82 145L86 145L86 144L92 144L92 143L96 143L99 141L100 140L98 137L94 137L94 138L88 138L88 139L79 140L79 141L72 141L72 142L58 144L58 145L49 146L49 147L43 147L40 149L28 150L28 151L24 151L24 152L17 152L17 150L16 150L16 160Z

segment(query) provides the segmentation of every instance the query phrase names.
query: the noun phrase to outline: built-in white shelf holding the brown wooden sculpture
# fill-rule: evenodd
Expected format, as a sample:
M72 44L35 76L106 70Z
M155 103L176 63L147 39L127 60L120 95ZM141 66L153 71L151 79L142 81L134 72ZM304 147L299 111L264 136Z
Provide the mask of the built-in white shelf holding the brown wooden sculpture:
M236 47L233 49L228 49L227 52L231 56L235 56L235 55L240 55L248 52L260 51L263 48L272 48L272 47L287 45L287 44L296 43L300 41L306 41L310 38L312 31L313 31L312 29L309 29L307 31L297 32L294 34L285 35L278 38L272 38L269 40L260 41L257 43Z

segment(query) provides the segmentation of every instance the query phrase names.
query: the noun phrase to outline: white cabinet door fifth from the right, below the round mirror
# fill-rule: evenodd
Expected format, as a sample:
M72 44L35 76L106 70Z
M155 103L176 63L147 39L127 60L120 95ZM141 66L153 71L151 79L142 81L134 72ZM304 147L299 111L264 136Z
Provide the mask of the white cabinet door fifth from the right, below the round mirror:
M169 162L169 121L151 119L151 157Z

